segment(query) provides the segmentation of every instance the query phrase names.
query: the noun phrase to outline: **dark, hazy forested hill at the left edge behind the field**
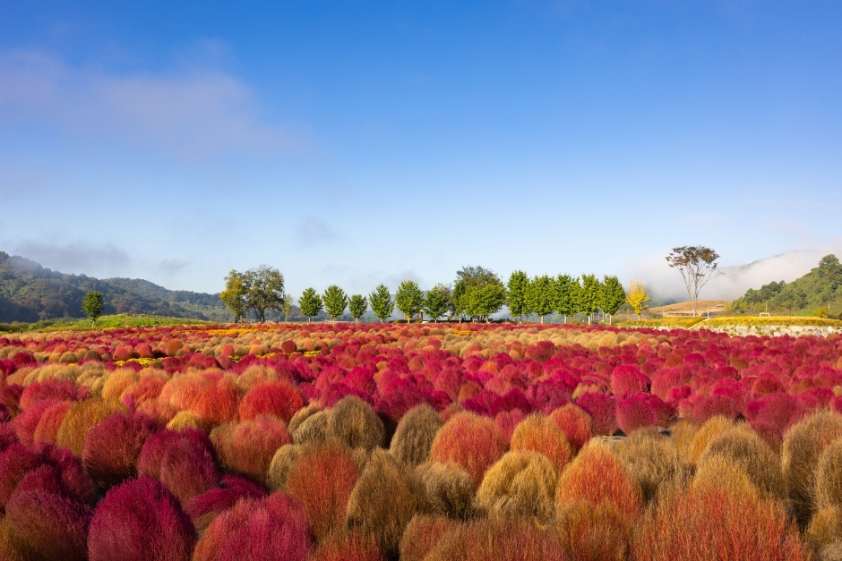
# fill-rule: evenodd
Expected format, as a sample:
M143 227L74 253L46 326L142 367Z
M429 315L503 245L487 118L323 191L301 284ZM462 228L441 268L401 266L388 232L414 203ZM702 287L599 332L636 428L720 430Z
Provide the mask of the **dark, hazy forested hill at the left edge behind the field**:
M81 318L89 290L103 294L106 314L231 319L219 294L167 290L142 279L66 275L0 251L0 322Z

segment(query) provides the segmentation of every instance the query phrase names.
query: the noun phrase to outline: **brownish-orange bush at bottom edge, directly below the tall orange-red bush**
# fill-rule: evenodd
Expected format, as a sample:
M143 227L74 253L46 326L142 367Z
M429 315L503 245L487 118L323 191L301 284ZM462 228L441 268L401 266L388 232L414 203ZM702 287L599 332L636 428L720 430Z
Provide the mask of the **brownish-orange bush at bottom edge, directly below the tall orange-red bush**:
M555 521L562 548L577 561L625 561L631 528L614 503L588 501L565 505Z

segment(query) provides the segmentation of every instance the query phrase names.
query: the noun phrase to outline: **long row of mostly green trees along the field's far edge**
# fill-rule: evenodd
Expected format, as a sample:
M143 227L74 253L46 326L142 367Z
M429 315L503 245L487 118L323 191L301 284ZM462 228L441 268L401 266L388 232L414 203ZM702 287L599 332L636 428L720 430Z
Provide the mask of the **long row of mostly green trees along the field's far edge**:
M639 294L642 285L632 283L630 293ZM644 293L645 294L645 293ZM251 311L255 319L265 320L267 310L276 310L288 320L294 299L284 292L284 276L276 268L261 266L245 272L232 270L225 277L222 302L235 316L244 319ZM507 283L494 271L483 267L464 267L456 273L451 285L435 285L426 292L413 280L405 280L392 297L386 285L379 285L370 294L348 294L339 285L328 286L323 293L308 287L298 298L301 315L311 321L322 311L334 321L346 313L359 321L368 310L382 322L390 319L395 310L407 321L442 318L460 321L489 321L496 312L508 305L512 318L523 321L524 316L536 314L541 323L546 316L557 313L564 322L582 314L591 323L597 311L609 318L629 302L640 314L641 302L632 302L616 276L528 276L515 271ZM637 305L636 305L637 304Z

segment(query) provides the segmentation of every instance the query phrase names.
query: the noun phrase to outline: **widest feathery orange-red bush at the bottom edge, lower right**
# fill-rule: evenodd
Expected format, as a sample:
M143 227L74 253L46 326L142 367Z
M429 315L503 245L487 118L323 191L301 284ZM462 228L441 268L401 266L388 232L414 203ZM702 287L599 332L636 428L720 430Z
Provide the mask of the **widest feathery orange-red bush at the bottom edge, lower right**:
M633 558L652 561L810 558L777 503L711 486L659 500L633 549Z

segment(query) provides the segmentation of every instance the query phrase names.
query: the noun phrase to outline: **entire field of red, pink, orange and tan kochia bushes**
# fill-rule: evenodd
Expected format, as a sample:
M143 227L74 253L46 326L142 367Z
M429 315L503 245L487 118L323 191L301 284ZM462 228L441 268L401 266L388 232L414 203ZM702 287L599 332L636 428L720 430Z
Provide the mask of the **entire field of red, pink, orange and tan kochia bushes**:
M2 560L842 558L840 336L124 328L0 377Z

